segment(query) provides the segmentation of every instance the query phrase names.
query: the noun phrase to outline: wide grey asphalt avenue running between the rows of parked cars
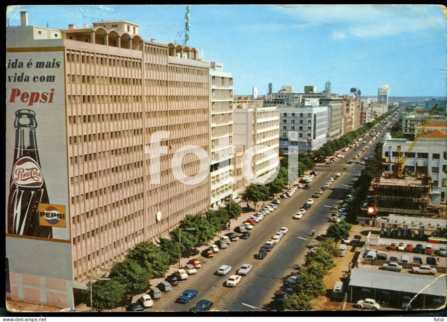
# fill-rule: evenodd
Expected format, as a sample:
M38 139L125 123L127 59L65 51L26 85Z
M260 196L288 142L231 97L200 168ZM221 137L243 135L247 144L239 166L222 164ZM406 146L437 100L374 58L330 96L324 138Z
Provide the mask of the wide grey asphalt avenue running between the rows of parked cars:
M368 138L367 141L369 140L371 139ZM370 153L374 152L375 143L381 140L382 136L375 140L362 153L361 157L370 157ZM336 206L344 196L350 194L348 186L353 184L364 167L355 163L347 165L345 161L350 160L358 153L363 145L360 143L355 151L354 148L351 148L344 152L346 158L339 159L331 165L316 165L313 170L319 174L310 182L309 190L299 189L291 198L281 199L278 209L255 225L249 239L232 242L227 249L219 250L219 253L213 258L199 257L202 268L198 269L198 273L191 275L186 281L181 281L179 285L173 287L172 291L163 293L163 297L155 300L154 306L147 311L187 311L201 299L214 302L212 308L214 310L230 311L252 310L241 303L257 307L263 307L269 303L274 298L274 292L279 290L283 281L295 269L295 265L304 262L304 255L313 244L312 229L315 229L316 235L319 235L325 233L330 225L329 217L332 210L325 206ZM347 169L344 170L343 167ZM314 199L314 204L303 218L292 219L303 203L312 198L315 191L318 191L336 172L343 174L320 198ZM254 255L257 254L259 248L283 226L289 228L288 233L267 254L265 259L255 259ZM309 240L302 240L297 236ZM236 274L236 271L244 263L253 265L249 274L243 276L235 288L225 287L224 284L228 277ZM226 276L216 275L215 272L223 264L230 265L232 270ZM198 290L198 296L187 304L175 303L176 298L186 289Z

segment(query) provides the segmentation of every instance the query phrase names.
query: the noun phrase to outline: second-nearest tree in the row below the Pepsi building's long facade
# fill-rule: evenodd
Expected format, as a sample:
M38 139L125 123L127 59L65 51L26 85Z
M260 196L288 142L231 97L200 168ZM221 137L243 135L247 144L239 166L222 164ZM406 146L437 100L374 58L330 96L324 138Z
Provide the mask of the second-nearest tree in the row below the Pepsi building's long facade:
M149 283L148 272L129 258L112 267L109 277L124 286L127 293L142 290Z

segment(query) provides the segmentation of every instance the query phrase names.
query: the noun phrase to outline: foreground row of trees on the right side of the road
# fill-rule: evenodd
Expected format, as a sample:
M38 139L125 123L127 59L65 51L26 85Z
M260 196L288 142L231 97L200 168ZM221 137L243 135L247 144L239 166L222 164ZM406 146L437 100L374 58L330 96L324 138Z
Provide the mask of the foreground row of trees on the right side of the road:
M340 223L332 224L327 230L331 239L321 241L318 249L306 258L306 267L301 268L297 276L293 295L280 304L278 310L299 311L312 310L312 299L325 294L326 286L324 277L335 267L335 257L340 255L337 242L349 236L351 225L342 220ZM335 241L335 242L334 242ZM281 307L282 306L282 307Z

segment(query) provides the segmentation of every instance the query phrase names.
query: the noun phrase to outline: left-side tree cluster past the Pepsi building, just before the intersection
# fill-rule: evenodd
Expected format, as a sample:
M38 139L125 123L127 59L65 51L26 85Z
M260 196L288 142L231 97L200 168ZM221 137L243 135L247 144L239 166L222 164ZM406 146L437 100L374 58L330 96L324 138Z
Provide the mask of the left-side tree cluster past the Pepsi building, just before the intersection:
M302 176L305 171L312 169L315 165L315 162L305 154L300 153L298 160L298 162L294 162L294 164L291 164L290 166L292 178ZM287 156L284 156L280 160L278 176L266 185L250 184L247 188L245 188L242 198L247 202L253 202L255 210L257 203L274 199L278 193L281 193L287 187L289 181L288 169L289 159ZM248 203L247 207L249 207Z

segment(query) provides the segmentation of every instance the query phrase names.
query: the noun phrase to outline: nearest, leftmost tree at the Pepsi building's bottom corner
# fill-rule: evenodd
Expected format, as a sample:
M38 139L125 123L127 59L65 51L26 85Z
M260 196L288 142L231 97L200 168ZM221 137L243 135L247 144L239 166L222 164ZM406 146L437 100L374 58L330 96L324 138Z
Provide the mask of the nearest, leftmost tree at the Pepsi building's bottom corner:
M85 302L90 305L90 287L92 287L93 308L99 311L115 308L126 294L126 288L116 280L97 280L93 285L87 282L87 287L89 289L84 291Z

